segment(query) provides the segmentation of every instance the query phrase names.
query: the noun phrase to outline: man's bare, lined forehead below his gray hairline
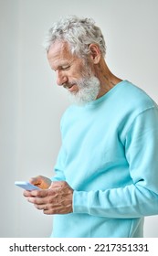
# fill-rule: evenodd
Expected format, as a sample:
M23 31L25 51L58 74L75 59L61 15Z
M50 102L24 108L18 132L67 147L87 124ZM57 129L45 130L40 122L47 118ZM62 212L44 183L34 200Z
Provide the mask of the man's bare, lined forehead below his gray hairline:
M56 41L47 52L47 59L52 69L64 65L73 59L76 59L69 49L67 42Z

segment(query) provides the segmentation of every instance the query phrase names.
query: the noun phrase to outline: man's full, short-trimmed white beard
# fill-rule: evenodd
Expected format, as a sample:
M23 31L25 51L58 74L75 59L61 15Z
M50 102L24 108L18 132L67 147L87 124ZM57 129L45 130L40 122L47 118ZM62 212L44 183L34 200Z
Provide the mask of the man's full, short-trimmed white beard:
M79 86L79 91L69 92L68 97L70 102L77 105L84 105L90 101L95 101L100 92L100 80L96 77L86 77L76 81Z

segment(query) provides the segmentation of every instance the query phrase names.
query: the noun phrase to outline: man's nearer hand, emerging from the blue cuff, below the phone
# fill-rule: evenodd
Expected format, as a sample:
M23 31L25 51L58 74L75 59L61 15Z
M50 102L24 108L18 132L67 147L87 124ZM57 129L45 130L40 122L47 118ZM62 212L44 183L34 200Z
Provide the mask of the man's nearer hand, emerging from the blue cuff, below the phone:
M52 182L51 186L44 190L25 190L24 196L45 214L72 212L73 189L65 181Z

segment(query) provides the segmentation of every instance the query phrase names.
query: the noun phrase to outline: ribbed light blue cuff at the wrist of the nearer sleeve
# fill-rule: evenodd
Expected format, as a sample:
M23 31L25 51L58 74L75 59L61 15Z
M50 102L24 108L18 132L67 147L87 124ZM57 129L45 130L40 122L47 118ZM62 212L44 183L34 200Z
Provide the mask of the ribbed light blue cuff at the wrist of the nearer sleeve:
M73 192L73 212L90 214L90 195L89 192Z

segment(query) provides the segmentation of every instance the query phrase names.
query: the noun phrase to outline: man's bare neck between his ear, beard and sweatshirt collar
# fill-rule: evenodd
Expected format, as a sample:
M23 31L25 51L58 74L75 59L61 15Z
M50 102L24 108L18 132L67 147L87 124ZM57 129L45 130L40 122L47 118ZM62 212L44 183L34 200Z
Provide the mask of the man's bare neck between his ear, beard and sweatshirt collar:
M100 80L98 99L110 91L117 83L121 82L121 79L111 73L104 59L100 59L100 63L96 65L95 76Z

